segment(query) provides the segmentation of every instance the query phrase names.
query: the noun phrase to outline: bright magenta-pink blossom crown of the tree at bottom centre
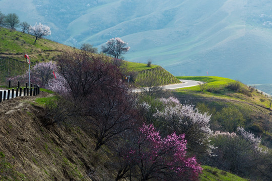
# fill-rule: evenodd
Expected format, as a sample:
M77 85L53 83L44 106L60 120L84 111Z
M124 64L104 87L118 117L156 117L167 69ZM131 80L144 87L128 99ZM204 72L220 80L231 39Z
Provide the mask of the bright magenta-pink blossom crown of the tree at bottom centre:
M172 133L162 138L152 124L144 124L140 132L137 146L130 148L125 156L127 161L138 164L141 170L149 173L165 171L179 178L189 175L189 180L197 179L202 168L195 157L186 156L184 134Z

